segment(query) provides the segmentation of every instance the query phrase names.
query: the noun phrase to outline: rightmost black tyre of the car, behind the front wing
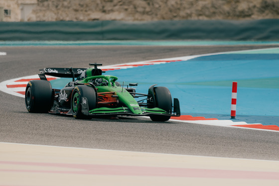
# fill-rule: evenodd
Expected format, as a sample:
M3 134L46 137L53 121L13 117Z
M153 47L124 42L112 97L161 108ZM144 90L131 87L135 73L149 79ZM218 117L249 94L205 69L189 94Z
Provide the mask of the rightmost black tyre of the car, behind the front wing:
M155 107L161 108L171 114L172 111L172 98L169 90L166 87L154 87ZM152 115L152 121L167 121L170 116L168 115Z

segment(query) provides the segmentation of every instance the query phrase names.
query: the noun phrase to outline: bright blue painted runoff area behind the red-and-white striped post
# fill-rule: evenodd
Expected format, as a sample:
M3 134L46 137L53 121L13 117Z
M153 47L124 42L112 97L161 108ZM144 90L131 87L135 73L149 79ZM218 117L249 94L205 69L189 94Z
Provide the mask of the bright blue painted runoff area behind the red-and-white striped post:
M152 84L167 87L180 99L183 113L230 113L232 82L236 81L237 114L279 116L279 61L239 57L216 55L109 73L119 81L139 83L138 92L147 92ZM267 85L270 80L273 84Z

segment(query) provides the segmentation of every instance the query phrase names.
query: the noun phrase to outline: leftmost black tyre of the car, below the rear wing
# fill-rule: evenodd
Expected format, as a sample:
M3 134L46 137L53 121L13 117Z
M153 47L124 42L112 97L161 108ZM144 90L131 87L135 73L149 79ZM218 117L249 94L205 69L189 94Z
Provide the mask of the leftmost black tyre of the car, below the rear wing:
M31 80L25 89L28 112L47 113L53 105L51 84L45 80Z

